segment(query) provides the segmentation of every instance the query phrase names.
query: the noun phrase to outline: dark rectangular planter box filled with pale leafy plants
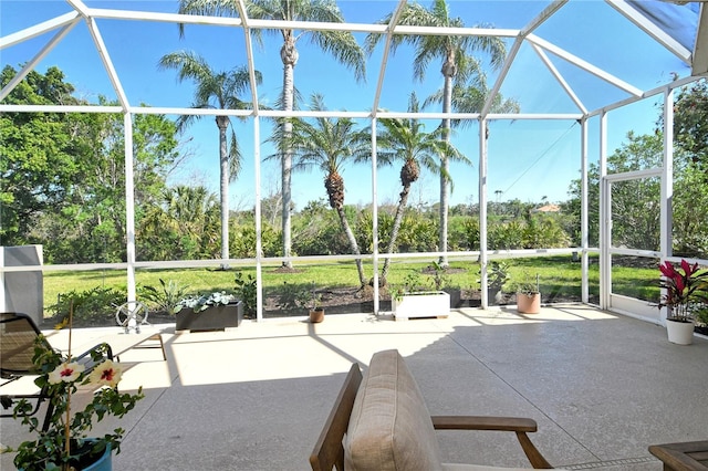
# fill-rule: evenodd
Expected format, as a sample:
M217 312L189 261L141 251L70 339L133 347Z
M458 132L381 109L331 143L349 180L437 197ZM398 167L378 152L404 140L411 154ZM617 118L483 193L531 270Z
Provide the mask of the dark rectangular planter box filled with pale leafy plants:
M243 318L243 303L226 291L181 299L175 306L175 331L216 331L238 327Z

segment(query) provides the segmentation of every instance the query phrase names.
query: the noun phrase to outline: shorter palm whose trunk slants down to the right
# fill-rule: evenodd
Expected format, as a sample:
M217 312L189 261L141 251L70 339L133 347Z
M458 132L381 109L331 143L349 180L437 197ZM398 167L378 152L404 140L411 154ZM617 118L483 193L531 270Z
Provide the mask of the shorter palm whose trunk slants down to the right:
M310 108L326 111L324 98L313 94ZM296 158L295 169L319 168L325 174L324 188L330 199L330 207L336 210L342 230L350 241L352 252L361 255L356 237L350 227L344 212L344 178L341 171L351 160L364 161L371 157L371 134L366 129L355 130L355 123L350 118L314 119L314 124L303 119L291 119L292 134L290 147ZM356 259L360 286L366 284L362 260Z

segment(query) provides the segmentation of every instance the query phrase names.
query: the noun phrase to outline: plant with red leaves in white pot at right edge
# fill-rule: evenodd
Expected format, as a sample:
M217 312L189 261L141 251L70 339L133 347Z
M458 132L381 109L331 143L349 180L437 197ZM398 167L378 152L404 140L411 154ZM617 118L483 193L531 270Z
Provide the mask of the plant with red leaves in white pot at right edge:
M659 264L662 278L659 287L664 293L657 304L658 308L666 307L666 329L668 341L674 344L688 345L694 337L693 312L708 300L708 271L700 271L698 263L693 265L681 260L676 269L671 262Z

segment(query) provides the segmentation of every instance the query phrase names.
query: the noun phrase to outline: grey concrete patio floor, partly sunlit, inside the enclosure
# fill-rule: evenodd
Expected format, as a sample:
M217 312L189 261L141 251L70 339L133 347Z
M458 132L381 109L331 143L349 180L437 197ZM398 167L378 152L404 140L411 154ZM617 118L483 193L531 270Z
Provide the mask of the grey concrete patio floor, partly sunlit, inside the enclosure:
M667 342L663 327L591 306L540 314L475 308L395 322L367 314L246 321L229 332L162 332L156 349L122 355L122 390L145 399L123 420L114 470L306 470L308 457L353 362L397 348L434 415L531 417L555 467L660 470L647 447L708 439L708 339ZM50 338L60 346L62 335ZM75 329L74 350L118 327ZM449 462L528 465L512 433L438 432ZM0 441L27 438L0 420ZM13 469L10 456L0 467Z

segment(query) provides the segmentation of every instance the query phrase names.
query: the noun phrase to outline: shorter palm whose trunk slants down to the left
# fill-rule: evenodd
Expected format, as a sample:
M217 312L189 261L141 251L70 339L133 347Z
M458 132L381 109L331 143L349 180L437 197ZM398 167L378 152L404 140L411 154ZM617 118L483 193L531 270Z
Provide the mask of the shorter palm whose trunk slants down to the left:
M414 92L408 98L408 112L418 113L418 98ZM469 160L445 139L447 130L442 127L437 127L431 133L426 133L425 125L416 118L382 118L379 123L384 130L376 138L378 164L393 165L396 160L403 160L403 166L400 167L403 190L396 207L391 239L386 250L386 253L392 254L396 247L396 239L398 238L398 230L400 229L400 222L408 201L410 186L420 176L420 166L435 174L440 172L447 179L449 178L447 169L438 165L437 157L444 157L446 160ZM382 286L386 284L389 264L391 258L386 258L379 281Z

